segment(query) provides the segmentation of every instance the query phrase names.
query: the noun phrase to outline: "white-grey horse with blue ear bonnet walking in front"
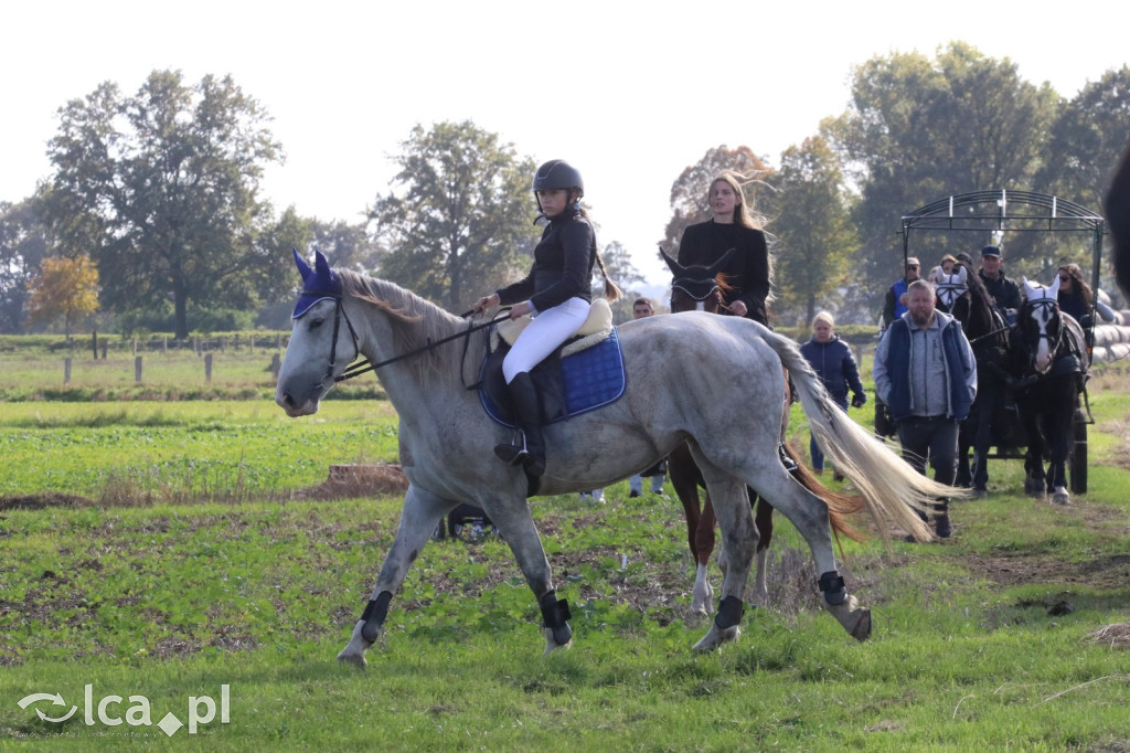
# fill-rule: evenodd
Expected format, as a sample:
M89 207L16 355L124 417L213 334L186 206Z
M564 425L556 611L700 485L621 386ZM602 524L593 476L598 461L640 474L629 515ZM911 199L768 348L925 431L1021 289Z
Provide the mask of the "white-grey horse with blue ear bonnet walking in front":
M460 502L483 508L503 531L541 608L546 652L568 644L568 605L557 598L530 516L529 479L492 450L511 431L493 422L475 391L464 388L475 381L485 354L483 338L459 338L468 329L464 320L392 283L330 270L320 253L313 270L297 253L295 258L305 289L276 401L290 416L313 414L346 371L339 356L364 356L372 364L394 358L377 369L377 378L400 419L400 462L409 481L392 548L338 659L366 666L365 651L381 634L392 595L436 523ZM445 338L457 339L436 345ZM782 364L792 373L812 431L855 484L880 531L893 521L928 540L931 533L915 510L953 490L916 474L847 418L827 398L798 346L756 322L696 312L649 317L624 324L619 339L628 374L624 397L545 427L547 469L540 493L607 486L689 442L714 501L728 564L718 615L695 650L712 650L740 633L758 539L747 486L772 499L808 542L822 573L817 586L824 607L853 637L868 638L870 611L847 594L836 569L827 507L777 458ZM701 366L688 366L690 362Z

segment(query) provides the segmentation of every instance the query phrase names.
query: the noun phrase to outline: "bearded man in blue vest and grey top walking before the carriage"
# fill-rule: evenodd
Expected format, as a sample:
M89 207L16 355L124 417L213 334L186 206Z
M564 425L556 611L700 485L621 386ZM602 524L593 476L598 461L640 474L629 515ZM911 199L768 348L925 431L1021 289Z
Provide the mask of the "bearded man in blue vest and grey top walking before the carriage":
M898 426L903 459L933 478L953 485L957 474L957 430L977 393L977 366L960 322L935 310L933 287L914 280L907 311L896 319L875 349L875 391ZM953 531L949 501L935 505L936 531Z

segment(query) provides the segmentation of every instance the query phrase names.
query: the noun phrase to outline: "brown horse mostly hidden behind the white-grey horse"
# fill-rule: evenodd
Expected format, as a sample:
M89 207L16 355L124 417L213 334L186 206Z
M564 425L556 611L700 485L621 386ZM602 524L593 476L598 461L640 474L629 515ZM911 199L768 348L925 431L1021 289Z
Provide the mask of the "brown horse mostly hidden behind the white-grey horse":
M666 251L660 249L663 260L675 276L671 282L671 313L683 311L706 311L719 313L722 309L722 301L730 286L725 282L725 275L720 270L725 267L727 260L733 251L728 251L712 267L684 267L678 261L671 259ZM788 380L785 389L788 390ZM782 405L789 404L789 395L785 393ZM847 525L845 517L863 509L863 501L859 497L851 497L836 494L825 488L816 475L798 458L789 445L785 452L797 465L797 469L791 471L793 478L810 492L816 493L828 502L828 517L832 528L837 534L844 534L849 538L859 539L859 535ZM711 553L714 551L715 535L714 527L718 522L714 517L714 505L711 504L710 494L705 492L706 484L702 471L695 465L687 444L680 444L667 458L668 475L671 478L671 486L683 503L683 510L687 519L687 544L690 546L690 555L695 560L695 586L692 591L690 607L695 612L709 614L713 603L714 589L710 585L707 565ZM703 490L703 500L699 501L698 490ZM750 503L755 504L755 520L759 538L757 542L757 574L755 577L755 599L764 601L768 595L765 583L765 563L770 542L773 539L773 505L765 501L756 491L749 488ZM755 503L756 501L756 503ZM724 559L722 560L724 562Z

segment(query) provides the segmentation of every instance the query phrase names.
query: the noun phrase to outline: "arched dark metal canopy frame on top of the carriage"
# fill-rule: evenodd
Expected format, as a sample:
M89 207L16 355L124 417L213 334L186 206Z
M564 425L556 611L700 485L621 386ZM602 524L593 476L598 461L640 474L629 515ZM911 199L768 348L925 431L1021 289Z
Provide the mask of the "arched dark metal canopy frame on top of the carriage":
M1089 233L1090 289L1097 291L1104 224L1098 213L1046 193L1007 189L958 193L903 215L903 261L910 256L912 231Z

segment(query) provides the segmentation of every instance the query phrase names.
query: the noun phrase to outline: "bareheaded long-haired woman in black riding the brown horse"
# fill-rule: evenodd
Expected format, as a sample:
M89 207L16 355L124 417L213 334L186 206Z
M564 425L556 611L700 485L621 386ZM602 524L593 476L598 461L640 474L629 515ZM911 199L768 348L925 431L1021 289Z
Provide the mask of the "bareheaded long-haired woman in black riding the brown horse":
M745 317L768 327L765 302L770 297L773 274L770 249L764 231L746 205L740 178L738 173L725 171L711 181L707 199L712 217L683 231L677 260L684 267L712 267L727 251L736 249L720 270L730 286L724 293L721 313ZM797 464L784 451L783 426L781 433L781 462L794 470Z

